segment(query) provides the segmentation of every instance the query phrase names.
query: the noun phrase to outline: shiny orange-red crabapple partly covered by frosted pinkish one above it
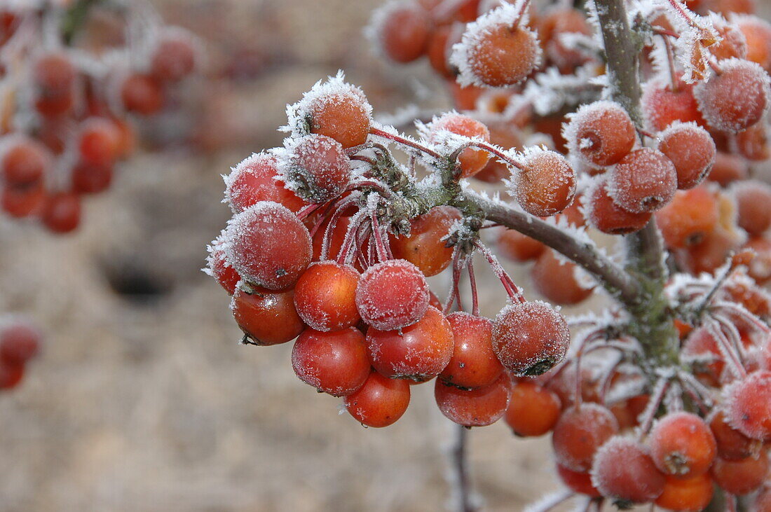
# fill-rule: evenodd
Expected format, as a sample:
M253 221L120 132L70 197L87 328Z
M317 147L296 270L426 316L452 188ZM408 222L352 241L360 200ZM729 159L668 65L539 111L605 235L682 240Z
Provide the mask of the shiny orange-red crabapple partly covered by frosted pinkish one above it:
M453 330L433 306L401 330L370 327L366 340L372 366L391 379L425 382L439 375L453 356Z

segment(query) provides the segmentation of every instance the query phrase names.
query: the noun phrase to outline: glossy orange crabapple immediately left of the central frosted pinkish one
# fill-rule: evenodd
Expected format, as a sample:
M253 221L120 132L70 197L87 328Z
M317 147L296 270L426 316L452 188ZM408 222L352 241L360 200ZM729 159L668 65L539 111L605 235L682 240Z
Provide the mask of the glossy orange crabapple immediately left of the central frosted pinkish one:
M295 307L311 328L334 331L362 320L356 307L359 272L332 261L311 263L295 284Z

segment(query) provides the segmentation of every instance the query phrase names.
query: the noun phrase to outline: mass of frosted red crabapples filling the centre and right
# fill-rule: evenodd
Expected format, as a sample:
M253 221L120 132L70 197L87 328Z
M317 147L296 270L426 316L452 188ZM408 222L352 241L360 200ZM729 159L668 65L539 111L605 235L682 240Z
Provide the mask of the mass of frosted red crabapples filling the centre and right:
M416 123L417 138L375 122L342 75L288 107L283 147L225 178L234 216L210 246L207 271L231 294L244 343L296 339L295 373L344 397L366 426L398 420L410 385L434 380L439 410L460 425L503 418L519 436L551 433L565 487L595 503L702 510L719 487L729 504L750 494L769 510L771 187L749 172L769 156L771 28L732 15L749 8L741 2L696 3L728 19L675 0L631 13L651 57L632 115L601 95L596 16L569 10L565 26L553 13L534 21L530 2L386 5L370 28L385 55L427 53L480 93L456 104L463 113ZM470 179L503 185L506 200ZM648 330L672 327L670 350L631 336L637 320L620 307L566 319L550 303L595 288L493 210L585 246L588 229L630 236L658 224L671 316ZM550 303L525 300L480 233L534 261ZM510 299L493 320L479 314L474 253ZM441 304L426 277L445 269Z

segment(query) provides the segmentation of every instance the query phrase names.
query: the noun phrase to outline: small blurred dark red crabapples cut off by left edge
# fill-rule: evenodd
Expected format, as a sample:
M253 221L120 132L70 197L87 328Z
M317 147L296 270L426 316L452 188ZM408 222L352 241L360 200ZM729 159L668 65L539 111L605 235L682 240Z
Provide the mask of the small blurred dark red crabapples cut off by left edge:
M0 319L0 390L22 382L25 366L40 351L41 336L29 322L14 317Z

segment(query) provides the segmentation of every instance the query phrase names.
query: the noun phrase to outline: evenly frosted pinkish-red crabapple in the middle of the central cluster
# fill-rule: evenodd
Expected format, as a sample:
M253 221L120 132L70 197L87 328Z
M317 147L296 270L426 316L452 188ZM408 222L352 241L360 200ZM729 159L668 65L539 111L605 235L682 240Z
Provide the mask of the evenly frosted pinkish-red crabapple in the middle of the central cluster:
M375 329L402 329L426 313L429 286L418 267L404 259L389 259L362 274L356 305L362 320Z

